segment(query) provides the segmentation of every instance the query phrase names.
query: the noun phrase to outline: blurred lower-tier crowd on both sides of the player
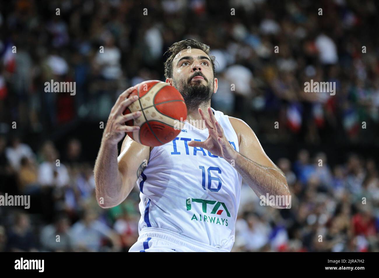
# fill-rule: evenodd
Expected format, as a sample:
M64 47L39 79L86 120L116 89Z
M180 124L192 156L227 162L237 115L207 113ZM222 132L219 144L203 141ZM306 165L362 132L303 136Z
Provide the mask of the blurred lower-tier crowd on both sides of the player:
M0 251L119 251L138 238L139 189L120 205L96 202L93 165L72 138L65 157L52 141L37 152L0 137L0 195L30 195L30 208L0 206ZM232 251L379 252L379 174L374 160L349 155L329 166L302 149L276 162L292 194L290 209L263 206L245 183Z

